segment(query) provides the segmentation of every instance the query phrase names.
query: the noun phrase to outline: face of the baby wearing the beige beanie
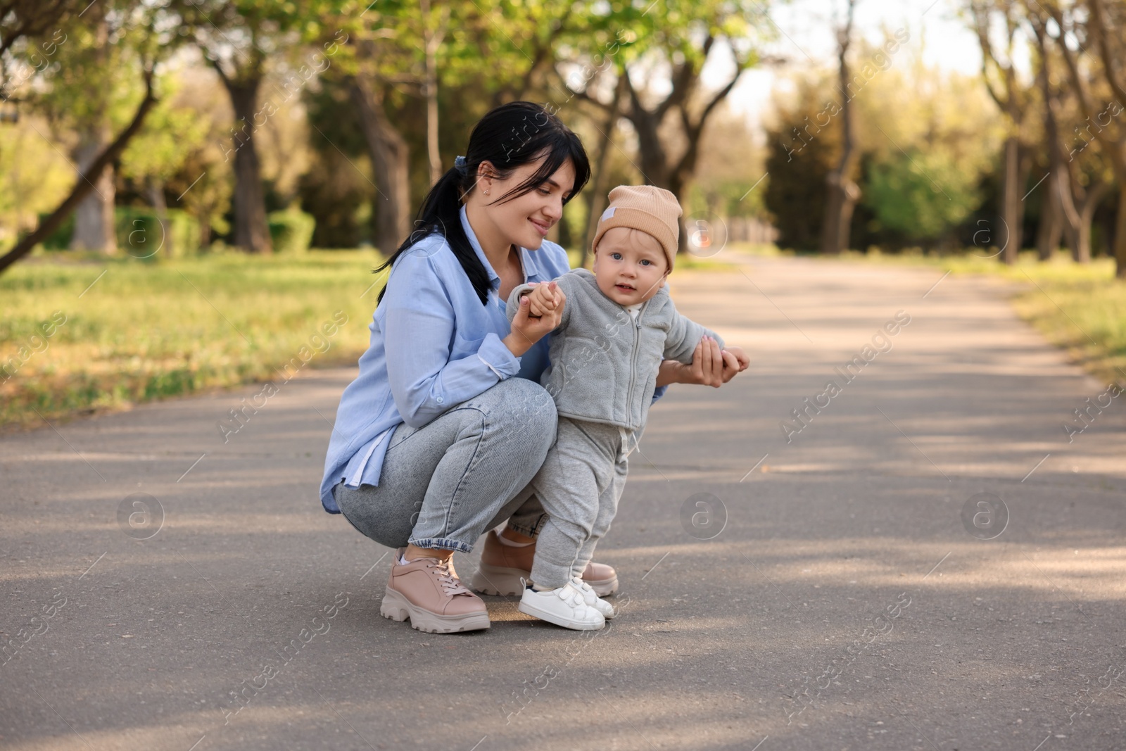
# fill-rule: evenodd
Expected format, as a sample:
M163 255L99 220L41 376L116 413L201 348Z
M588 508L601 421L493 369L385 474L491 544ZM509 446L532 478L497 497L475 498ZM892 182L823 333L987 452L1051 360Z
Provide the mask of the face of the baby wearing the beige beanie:
M595 277L602 294L618 305L644 303L664 286L669 262L656 239L640 230L606 231L595 252Z

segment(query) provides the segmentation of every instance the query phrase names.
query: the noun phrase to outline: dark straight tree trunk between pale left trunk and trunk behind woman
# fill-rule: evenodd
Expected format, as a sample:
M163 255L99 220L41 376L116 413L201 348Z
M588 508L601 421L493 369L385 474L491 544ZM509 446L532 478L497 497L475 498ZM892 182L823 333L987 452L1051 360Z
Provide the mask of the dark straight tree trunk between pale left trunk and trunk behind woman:
M266 197L261 167L254 149L254 114L261 78L223 79L234 108L234 244L251 253L271 253L270 230L266 222ZM230 158L231 152L226 152Z

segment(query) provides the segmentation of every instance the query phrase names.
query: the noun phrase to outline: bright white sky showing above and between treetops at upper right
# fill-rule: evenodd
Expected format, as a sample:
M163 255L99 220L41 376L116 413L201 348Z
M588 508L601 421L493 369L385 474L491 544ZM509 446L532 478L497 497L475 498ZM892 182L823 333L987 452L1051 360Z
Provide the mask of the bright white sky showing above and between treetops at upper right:
M795 70L807 65L835 64L837 39L833 33L833 8L843 9L843 0L792 0L785 5L772 3L769 18L774 23L777 42L766 52L787 59L781 68L758 68L743 73L729 96L729 106L743 113L758 126L760 116L769 108L772 90ZM942 70L977 74L981 71L981 47L977 36L964 19L957 16L962 0L859 0L856 8L855 29L875 44L881 43L884 29L905 28L910 41L905 48L921 50L923 62ZM902 54L902 53L897 53ZM732 66L723 55L713 54L704 69L704 83L716 89L730 80Z

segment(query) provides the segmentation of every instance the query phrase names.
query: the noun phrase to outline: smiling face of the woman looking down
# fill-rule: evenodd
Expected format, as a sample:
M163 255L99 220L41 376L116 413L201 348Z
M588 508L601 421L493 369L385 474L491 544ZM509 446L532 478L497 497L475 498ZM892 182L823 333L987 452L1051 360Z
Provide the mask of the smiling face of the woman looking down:
M504 235L506 241L528 250L538 249L548 230L563 217L563 200L574 187L574 166L568 160L538 187L506 202L504 195L534 175L543 161L539 159L521 164L504 179L484 176L479 179L474 190L479 194L489 191L479 198L488 209L490 222ZM485 164L488 162L482 167Z

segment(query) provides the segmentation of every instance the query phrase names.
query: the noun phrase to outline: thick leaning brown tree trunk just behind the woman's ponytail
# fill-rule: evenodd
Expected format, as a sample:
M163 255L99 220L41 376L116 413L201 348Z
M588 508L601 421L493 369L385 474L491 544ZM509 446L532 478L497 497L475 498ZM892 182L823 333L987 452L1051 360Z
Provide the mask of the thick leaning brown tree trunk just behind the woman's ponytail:
M406 240L411 232L410 182L408 180L409 146L383 111L383 96L377 86L355 78L351 98L356 105L364 138L372 157L377 184L375 244L387 256Z

